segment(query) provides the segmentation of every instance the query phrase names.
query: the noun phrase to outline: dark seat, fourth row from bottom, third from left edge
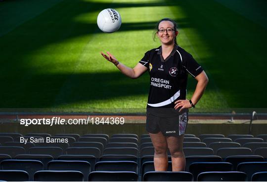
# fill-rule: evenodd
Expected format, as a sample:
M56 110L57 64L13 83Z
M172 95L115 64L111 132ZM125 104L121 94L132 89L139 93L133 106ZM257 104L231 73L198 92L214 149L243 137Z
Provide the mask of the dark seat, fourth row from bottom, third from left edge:
M67 155L93 155L99 158L101 151L96 147L68 147L66 149Z

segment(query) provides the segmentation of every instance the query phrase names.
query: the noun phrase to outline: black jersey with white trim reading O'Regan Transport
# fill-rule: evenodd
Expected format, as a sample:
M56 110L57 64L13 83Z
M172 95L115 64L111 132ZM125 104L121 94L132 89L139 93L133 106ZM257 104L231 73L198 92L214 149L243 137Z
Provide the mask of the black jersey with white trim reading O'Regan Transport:
M188 74L195 77L203 71L192 55L178 45L165 60L160 46L147 51L139 63L148 68L150 75L147 108L154 108L157 115L178 114L174 103L186 97Z

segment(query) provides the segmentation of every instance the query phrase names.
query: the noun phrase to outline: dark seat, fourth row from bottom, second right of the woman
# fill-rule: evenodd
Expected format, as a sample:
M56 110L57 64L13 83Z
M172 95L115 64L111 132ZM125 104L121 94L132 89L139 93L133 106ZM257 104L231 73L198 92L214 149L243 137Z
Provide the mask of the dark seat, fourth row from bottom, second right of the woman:
M250 148L244 147L232 147L232 148L219 148L217 150L217 155L222 158L226 158L231 155L251 155L252 150Z

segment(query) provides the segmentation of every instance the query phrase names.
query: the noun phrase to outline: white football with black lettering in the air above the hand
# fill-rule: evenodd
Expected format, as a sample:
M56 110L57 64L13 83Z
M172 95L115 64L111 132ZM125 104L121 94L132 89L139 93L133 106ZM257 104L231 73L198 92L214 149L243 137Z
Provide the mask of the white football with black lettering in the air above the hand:
M115 9L104 9L97 16L97 26L105 33L112 33L119 30L122 25L122 18Z

